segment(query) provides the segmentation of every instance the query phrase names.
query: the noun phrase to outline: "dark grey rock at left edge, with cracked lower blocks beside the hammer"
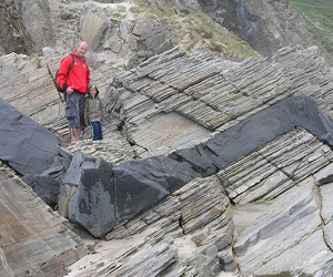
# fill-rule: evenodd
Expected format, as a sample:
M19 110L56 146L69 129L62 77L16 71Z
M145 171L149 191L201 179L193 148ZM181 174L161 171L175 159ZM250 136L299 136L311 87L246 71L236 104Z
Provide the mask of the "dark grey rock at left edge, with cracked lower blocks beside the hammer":
M58 137L0 99L0 160L7 163L51 207L58 204L61 176L71 155Z

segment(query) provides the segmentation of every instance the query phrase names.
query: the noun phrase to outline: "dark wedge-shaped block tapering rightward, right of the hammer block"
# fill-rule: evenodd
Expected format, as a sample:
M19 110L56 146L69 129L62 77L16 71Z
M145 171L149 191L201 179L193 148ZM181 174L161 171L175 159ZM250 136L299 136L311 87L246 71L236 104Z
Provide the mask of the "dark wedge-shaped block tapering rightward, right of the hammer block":
M113 168L117 219L131 218L172 192L201 177L189 164L165 156L130 161Z

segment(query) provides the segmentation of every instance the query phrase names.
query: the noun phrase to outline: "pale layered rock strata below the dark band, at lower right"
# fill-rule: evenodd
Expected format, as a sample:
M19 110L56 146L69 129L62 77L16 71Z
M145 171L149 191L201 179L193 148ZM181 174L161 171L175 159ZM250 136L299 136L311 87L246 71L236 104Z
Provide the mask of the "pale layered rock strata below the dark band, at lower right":
M332 150L294 129L119 225L75 276L330 276L331 172Z

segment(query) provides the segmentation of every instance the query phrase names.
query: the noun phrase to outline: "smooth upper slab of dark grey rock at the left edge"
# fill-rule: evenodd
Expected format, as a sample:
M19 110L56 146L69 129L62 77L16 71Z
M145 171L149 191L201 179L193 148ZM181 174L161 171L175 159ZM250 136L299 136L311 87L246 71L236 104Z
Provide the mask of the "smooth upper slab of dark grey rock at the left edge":
M60 161L60 141L0 99L0 160L21 175L40 175Z

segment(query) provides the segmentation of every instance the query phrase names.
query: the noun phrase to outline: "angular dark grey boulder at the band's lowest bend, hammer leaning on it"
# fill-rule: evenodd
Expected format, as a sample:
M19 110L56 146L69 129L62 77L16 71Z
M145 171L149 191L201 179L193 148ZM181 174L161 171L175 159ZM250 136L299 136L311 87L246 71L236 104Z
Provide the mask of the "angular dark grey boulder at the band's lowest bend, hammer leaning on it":
M165 156L130 161L112 167L102 158L77 152L63 176L59 209L69 186L68 218L95 237L132 218L182 187L198 173Z

